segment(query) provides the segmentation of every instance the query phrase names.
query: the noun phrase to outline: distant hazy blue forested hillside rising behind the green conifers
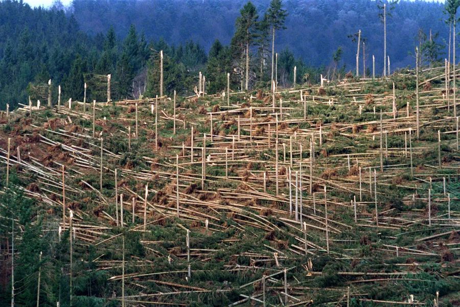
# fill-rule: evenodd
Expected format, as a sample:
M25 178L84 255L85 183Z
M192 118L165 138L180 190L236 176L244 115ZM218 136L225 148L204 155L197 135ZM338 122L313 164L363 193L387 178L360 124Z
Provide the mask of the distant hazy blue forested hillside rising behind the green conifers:
M164 38L171 44L193 40L205 50L215 39L228 44L235 32L235 19L247 0L74 0L70 11L81 29L90 35L113 27L124 37L131 23L150 40ZM259 15L269 1L254 0ZM284 31L279 33L275 50L288 47L307 65L332 62L332 54L343 47L343 61L354 65L356 45L348 35L362 31L366 53L376 56L376 69L383 69L383 25L376 1L371 0L285 0L288 11ZM443 21L444 5L424 1L400 1L388 18L388 54L394 67L412 64L408 51L415 48L420 28L425 33L439 32L448 39ZM113 23L112 20L117 20Z

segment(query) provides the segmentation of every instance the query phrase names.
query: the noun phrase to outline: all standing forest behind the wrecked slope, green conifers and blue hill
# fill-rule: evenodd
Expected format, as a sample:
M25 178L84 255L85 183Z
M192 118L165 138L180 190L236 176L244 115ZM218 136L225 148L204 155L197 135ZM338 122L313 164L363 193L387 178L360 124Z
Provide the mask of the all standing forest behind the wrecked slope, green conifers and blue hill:
M6 103L11 108L17 103L27 104L29 96L32 100L44 99L49 79L53 101L57 100L58 85L62 87L62 99L81 101L85 82L87 99L103 100L103 76L107 74L112 75L114 99L140 93L153 96L158 92L155 68L159 50L166 55L167 93L177 89L183 95L192 95L200 70L210 81L211 92L222 90L224 73L238 68L232 62L238 53L235 21L246 2L74 0L70 7L57 1L49 9L32 9L17 1L0 2L0 108L4 109ZM261 20L269 2L252 3ZM356 42L350 35L359 29L366 44L368 73L372 55L376 57L376 71L381 73L383 25L375 1L285 0L283 8L288 13L285 29L277 31L275 40L281 85L292 83L294 65L298 82L318 81L319 73L331 77L335 68L342 73L354 70ZM387 51L392 70L414 62L413 49L420 39L429 39L430 31L440 44L435 57L446 56L443 51L449 26L442 4L401 1L391 13ZM268 38L264 60L270 62ZM250 51L255 55L251 84L262 81L258 85L265 86L270 63L264 65L268 74L259 74L258 46L251 45ZM221 82L213 83L215 80ZM232 75L233 87L241 84L239 77Z

